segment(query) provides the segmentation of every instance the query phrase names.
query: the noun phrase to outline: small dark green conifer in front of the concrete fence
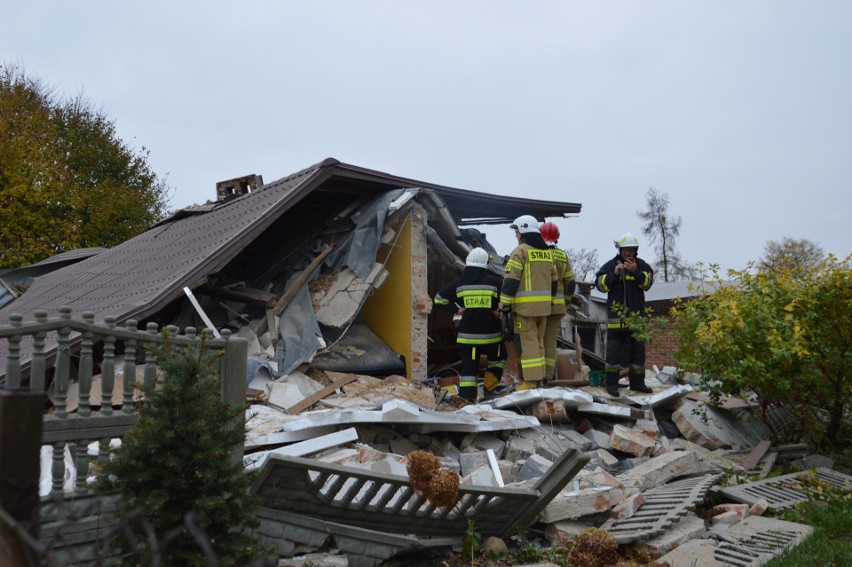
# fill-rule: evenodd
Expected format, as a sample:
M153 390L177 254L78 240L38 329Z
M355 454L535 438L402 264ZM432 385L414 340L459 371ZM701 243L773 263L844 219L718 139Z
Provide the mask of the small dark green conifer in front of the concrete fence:
M136 424L103 465L98 491L119 493L117 564L248 565L263 551L251 532L254 476L233 458L245 429L223 426L242 423L245 408L220 398L214 359L203 342L166 344L165 380L145 390Z

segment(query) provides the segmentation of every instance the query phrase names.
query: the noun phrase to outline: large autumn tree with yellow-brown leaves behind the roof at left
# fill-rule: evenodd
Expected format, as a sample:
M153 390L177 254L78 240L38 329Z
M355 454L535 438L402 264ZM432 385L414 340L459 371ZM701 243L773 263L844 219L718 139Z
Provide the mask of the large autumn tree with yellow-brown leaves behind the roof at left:
M148 153L81 95L0 65L0 268L114 246L162 220L168 186Z

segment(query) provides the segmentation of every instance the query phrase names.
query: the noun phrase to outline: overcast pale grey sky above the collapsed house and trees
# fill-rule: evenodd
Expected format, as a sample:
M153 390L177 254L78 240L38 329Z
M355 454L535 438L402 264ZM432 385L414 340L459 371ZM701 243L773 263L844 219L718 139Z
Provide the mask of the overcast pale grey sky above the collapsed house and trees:
M852 251L847 0L0 6L0 60L101 107L173 208L334 157L582 203L560 245L601 262L625 231L655 258L651 186L690 262L743 268L785 236Z

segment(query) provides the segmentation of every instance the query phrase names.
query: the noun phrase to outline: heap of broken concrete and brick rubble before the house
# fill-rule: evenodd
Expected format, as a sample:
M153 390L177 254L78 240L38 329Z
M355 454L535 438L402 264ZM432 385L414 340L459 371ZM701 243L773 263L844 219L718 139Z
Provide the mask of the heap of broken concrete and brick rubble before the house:
M342 377L334 373L328 380ZM321 387L303 374L279 383L290 383L291 392L304 396ZM431 388L400 377L359 375L315 406L328 409L289 415L263 401L254 404L246 443L252 452L246 455L246 465L263 470L272 455L291 455L405 478L406 455L426 450L439 457L443 468L457 472L464 487L523 491L540 482L561 455L574 452L583 455L585 466L543 503L536 518L549 539L566 541L588 527L602 527L619 543L640 542L659 553L689 550L690 557L706 555L718 565L739 565L726 563L723 546L730 539L720 539L721 533L727 538L731 530L744 538L763 537L762 528L754 534L738 526L754 522L774 506L773 500L746 498L742 494L747 491L726 492L717 485L722 473L747 474L740 463L749 453L757 460L783 448L768 448L764 442L757 451L749 449L759 444L757 432L744 430L741 418L685 398L691 386L660 388L642 405L637 403L639 407L607 401L591 393L591 387L555 387L457 408L440 401ZM696 411L709 421L695 417ZM341 429L344 426L348 428ZM673 437L672 432L680 435ZM255 453L260 457L252 457ZM788 461L802 459L795 451L790 456ZM693 510L711 488L733 502L719 504L705 520ZM406 522L406 514L401 512L394 521ZM798 528L793 532L795 537L806 535ZM385 551L410 551L430 540L414 526L410 533L417 534L419 543ZM458 538L450 539L458 545ZM381 555L382 549L374 555Z

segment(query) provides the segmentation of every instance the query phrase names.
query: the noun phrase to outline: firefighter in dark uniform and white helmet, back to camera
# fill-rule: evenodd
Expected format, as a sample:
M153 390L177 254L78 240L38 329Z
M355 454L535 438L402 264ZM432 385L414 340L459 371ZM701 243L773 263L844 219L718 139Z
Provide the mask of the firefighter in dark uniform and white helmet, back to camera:
M497 309L501 280L488 273L488 260L483 248L471 250L461 277L444 286L434 300L436 306L461 315L456 337L462 363L459 396L471 403L477 398L480 355L488 357L485 396L499 395L505 389L500 383L506 355Z

